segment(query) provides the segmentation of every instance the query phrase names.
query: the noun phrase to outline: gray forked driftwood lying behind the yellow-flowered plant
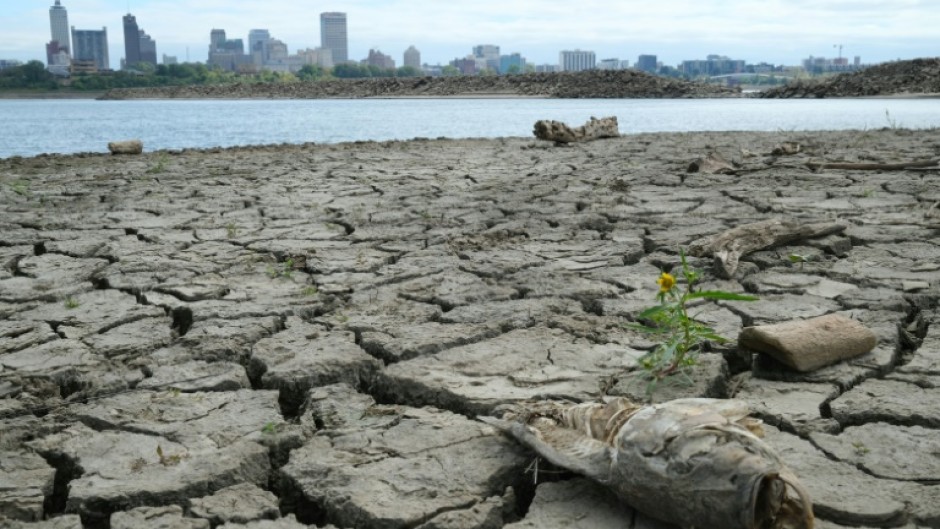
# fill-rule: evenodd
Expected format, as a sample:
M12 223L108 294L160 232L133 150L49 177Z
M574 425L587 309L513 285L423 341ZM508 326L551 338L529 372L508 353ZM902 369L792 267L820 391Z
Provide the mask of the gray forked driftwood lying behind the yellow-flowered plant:
M689 245L689 255L712 256L720 275L730 279L738 269L741 257L802 239L814 239L845 231L837 222L804 224L787 219L769 219L745 224L728 231L710 235Z

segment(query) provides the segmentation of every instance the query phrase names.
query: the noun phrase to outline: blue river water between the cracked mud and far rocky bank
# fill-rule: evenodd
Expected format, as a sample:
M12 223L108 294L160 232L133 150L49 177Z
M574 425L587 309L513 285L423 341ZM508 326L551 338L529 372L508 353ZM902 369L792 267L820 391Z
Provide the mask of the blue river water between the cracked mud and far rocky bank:
M540 119L620 131L804 131L940 126L937 99L0 100L0 158L271 143L531 136Z

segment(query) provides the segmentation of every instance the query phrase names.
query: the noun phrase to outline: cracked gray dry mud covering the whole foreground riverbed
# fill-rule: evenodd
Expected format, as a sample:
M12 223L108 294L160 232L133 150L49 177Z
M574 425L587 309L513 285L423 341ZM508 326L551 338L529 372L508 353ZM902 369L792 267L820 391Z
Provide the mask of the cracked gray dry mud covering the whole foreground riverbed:
M686 172L711 151L738 174ZM642 396L654 344L625 324L678 247L788 217L848 229L731 280L693 259L761 297L700 318L841 313L878 346L798 374L726 344L655 398L748 401L820 527L940 527L938 173L804 165L938 152L881 130L0 160L0 526L662 527L473 418Z

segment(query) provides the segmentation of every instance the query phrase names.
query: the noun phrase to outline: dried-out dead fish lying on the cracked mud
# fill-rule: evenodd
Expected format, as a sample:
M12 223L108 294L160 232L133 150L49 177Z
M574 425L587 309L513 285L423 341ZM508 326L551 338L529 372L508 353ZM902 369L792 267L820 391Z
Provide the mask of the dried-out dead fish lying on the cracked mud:
M480 419L665 522L812 529L809 493L760 439L761 422L749 413L734 399L643 405L613 398L543 401Z

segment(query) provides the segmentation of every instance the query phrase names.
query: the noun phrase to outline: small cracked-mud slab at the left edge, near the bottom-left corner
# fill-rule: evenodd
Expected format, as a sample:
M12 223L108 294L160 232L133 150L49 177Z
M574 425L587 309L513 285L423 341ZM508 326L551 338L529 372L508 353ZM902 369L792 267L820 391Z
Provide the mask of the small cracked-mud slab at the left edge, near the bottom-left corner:
M54 479L55 469L38 455L0 451L0 520L42 520Z

